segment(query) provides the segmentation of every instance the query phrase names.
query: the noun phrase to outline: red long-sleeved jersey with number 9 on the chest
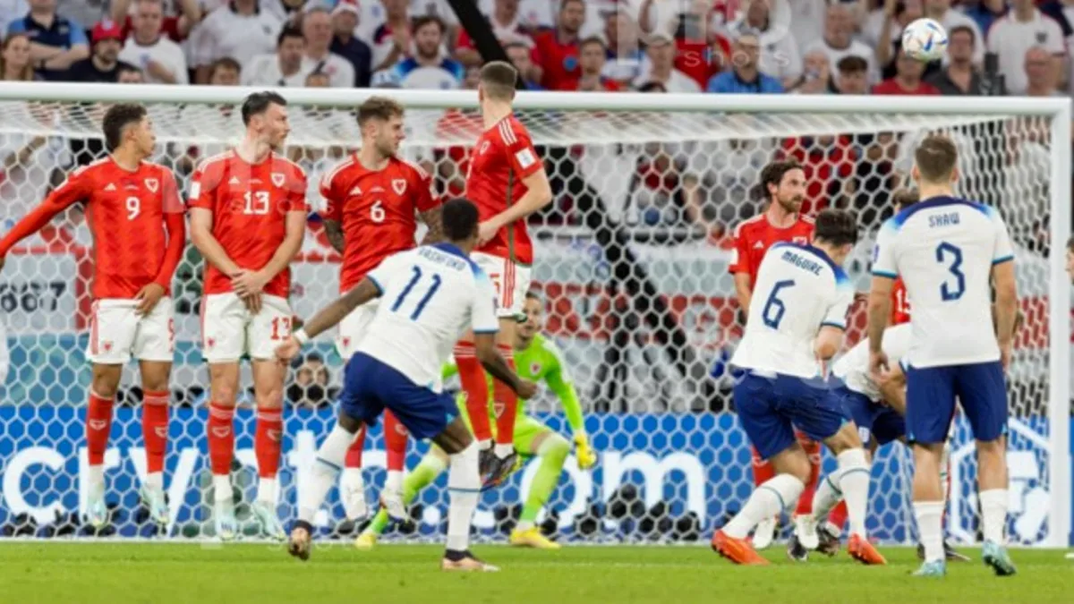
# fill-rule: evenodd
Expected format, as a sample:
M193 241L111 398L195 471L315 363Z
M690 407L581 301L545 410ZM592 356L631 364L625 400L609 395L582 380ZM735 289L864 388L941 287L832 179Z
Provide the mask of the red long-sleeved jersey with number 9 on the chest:
M79 201L93 235L93 298L130 300L151 283L168 291L186 245L185 208L175 176L156 163L130 172L107 157L78 168L0 241L0 257Z

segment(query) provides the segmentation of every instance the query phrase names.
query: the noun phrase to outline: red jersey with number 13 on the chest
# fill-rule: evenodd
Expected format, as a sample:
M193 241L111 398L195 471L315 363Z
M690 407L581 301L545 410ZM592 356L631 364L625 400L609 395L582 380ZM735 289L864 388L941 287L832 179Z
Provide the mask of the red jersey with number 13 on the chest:
M257 271L268 263L287 235L287 213L306 213L306 173L275 153L251 166L234 150L205 159L190 179L190 207L213 212L213 236L231 260ZM291 270L265 284L264 292L287 298ZM206 262L205 293L231 291L231 277Z

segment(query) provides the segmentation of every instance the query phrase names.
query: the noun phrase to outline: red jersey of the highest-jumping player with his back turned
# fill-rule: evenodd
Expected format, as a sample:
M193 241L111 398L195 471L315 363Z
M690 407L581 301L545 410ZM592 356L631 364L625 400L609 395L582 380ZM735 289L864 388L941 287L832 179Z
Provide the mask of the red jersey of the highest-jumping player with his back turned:
M522 181L543 168L526 127L509 115L478 136L466 170L466 197L488 220L522 199L527 190ZM525 220L504 227L477 251L520 264L534 261Z

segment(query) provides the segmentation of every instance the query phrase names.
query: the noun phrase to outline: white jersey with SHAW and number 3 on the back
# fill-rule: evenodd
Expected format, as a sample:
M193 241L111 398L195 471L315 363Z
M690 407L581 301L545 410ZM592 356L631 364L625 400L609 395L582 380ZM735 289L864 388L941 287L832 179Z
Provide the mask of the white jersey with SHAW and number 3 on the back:
M884 222L872 273L901 276L913 300L911 366L999 360L989 278L992 267L1011 260L1003 218L981 203L934 197Z

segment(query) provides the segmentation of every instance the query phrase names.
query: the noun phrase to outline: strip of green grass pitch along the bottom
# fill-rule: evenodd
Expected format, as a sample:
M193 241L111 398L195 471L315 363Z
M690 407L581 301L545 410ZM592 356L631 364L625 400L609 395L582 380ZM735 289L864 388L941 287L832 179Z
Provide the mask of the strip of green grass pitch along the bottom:
M1018 575L979 561L949 564L944 579L916 579L914 551L883 548L889 565L865 567L841 552L766 567L737 567L707 547L478 546L498 574L446 574L437 546L384 545L371 552L321 546L308 562L281 546L0 543L0 601L29 603L435 604L911 604L1074 602L1074 560L1061 550L1015 550ZM979 551L966 549L979 560Z

